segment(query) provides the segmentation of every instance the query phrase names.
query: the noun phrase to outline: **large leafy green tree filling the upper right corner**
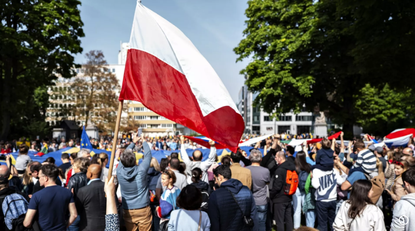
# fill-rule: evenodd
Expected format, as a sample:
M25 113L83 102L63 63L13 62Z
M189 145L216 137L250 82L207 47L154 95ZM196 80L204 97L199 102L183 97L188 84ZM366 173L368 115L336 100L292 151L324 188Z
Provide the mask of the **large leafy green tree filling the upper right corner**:
M411 0L249 0L237 61L266 112L324 111L352 135L361 89L414 86Z

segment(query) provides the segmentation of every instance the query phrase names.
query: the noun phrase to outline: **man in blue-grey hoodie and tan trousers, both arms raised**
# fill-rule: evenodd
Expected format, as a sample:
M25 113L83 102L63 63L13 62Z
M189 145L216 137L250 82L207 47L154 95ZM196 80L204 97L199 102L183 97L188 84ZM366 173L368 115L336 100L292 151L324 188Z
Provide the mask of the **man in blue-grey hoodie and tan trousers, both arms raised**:
M117 178L121 186L123 218L125 226L129 231L150 231L151 230L151 210L149 204L149 190L147 182L147 172L150 168L151 150L144 139L134 138L133 144L143 140L144 157L140 166L137 165L135 154L127 149L119 156L117 167Z

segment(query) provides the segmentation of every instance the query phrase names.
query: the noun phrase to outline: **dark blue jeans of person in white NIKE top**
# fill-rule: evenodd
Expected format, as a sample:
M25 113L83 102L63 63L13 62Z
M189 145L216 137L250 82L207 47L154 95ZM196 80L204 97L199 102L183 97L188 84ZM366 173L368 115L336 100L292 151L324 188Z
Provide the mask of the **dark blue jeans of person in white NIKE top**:
M336 217L336 201L316 202L317 229L319 231L333 231L333 222ZM327 225L328 223L328 225Z

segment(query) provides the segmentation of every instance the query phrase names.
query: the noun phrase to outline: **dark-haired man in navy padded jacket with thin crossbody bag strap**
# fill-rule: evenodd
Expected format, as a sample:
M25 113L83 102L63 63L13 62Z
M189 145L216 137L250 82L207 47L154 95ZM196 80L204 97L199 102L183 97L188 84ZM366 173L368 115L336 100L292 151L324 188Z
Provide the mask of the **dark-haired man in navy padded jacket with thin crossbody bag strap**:
M213 174L220 188L216 189L209 198L210 230L251 231L251 228L247 227L243 221L245 216L254 221L252 230L258 231L257 209L251 190L243 186L239 180L232 179L229 166L221 165L213 170Z

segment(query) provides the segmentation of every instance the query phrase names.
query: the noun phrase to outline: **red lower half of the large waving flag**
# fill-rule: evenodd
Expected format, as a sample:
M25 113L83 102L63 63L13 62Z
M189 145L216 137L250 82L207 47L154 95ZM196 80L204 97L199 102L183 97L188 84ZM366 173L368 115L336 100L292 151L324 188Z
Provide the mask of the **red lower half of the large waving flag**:
M147 52L128 50L119 100L139 101L158 115L237 151L244 130L242 116L229 106L203 116L186 77Z

